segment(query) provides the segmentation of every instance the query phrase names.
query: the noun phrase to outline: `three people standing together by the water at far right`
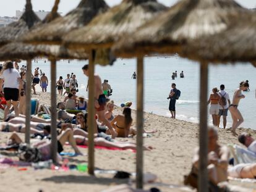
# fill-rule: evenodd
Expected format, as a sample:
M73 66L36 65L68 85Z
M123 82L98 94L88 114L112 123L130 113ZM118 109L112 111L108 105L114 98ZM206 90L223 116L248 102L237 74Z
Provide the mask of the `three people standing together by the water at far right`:
M240 99L245 98L244 94L242 94L242 91L249 90L249 83L248 81L242 81L239 84L239 88L237 88L237 90L234 92L232 102L229 99L229 94L224 91L224 88L224 85L220 85L220 91L218 91L218 88L216 87L213 88L213 93L210 94L207 102L207 104L210 104L209 112L213 119L213 125L219 127L220 117L223 116L223 128L226 128L226 117L228 116L229 110L233 119L231 132L234 136L237 136L236 128L239 127L239 125L241 125L241 123L244 121L242 114L237 107Z

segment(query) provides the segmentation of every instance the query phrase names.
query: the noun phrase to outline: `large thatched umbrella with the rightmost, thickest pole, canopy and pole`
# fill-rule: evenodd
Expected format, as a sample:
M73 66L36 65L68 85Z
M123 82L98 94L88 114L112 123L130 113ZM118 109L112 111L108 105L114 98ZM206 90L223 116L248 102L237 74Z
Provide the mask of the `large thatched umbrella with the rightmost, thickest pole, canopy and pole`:
M226 30L247 10L233 0L182 0L164 14L146 23L131 36L125 36L114 48L117 56L179 52L188 40ZM208 191L207 178L207 93L208 65L200 65L200 160L199 191Z

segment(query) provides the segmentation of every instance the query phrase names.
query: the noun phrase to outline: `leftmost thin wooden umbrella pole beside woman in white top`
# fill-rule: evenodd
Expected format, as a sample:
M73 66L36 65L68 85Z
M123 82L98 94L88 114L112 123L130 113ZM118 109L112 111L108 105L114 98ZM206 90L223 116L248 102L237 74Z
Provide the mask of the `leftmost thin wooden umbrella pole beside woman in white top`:
M25 129L25 143L30 144L30 119L31 119L31 73L32 73L32 62L27 60L27 74L26 74L26 129Z

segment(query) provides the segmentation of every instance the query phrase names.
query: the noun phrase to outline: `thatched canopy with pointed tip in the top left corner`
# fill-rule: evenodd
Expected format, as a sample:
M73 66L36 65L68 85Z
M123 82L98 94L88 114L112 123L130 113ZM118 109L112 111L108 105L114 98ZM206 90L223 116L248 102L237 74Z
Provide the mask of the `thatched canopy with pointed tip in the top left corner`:
M26 1L25 12L17 22L13 22L7 27L1 28L0 31L0 46L17 40L20 35L27 33L40 19L32 10L31 0Z

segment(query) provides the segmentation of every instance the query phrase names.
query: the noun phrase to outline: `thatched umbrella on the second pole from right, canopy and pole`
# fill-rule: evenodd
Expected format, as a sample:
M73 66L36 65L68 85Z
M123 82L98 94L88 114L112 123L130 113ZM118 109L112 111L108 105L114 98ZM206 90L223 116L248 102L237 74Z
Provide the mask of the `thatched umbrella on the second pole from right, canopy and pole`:
M166 7L156 0L124 0L121 4L98 15L87 26L64 37L69 48L109 49L122 36L132 34L138 27L153 19ZM92 58L92 56L91 56ZM93 60L89 64L93 66ZM92 69L92 72L94 69ZM137 60L137 188L143 188L143 59Z

